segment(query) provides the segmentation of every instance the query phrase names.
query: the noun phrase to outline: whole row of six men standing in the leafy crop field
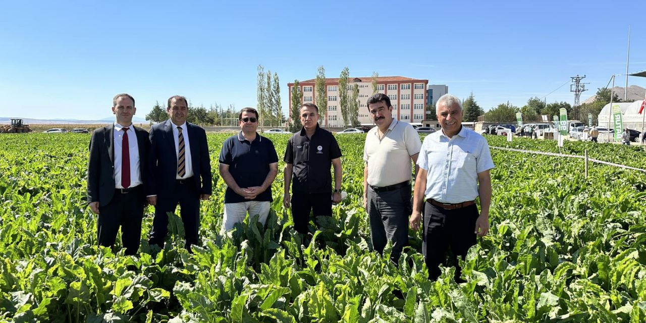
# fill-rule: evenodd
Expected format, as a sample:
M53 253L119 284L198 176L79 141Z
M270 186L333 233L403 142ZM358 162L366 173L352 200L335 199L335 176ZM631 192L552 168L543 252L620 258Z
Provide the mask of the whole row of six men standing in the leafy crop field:
M426 136L424 143L410 123L393 118L388 96L375 94L367 103L377 125L368 132L364 146L363 198L373 248L382 253L390 240L391 259L397 262L408 244L409 225L420 229L423 214L424 259L430 278L437 278L449 247L453 255L464 258L476 236L488 233L489 170L494 167L488 144L462 127L461 102L450 94L437 101L442 130ZM87 191L90 208L98 214L99 245L114 245L121 227L126 254L135 255L147 204L155 207L150 244L163 247L167 213L178 204L185 247L190 251L198 243L200 200L211 196L212 178L205 131L186 122L188 109L186 98L172 96L169 120L153 125L149 134L132 125L136 112L132 96L114 97L116 121L95 130L90 140ZM289 138L284 154L282 202L291 207L295 230L306 234L311 214L331 216L333 203L341 202L342 154L333 134L319 127L316 105L304 103L299 112L303 127ZM238 119L240 132L224 141L219 157L220 176L227 184L224 230L233 229L247 213L266 224L271 184L278 174L272 141L256 132L258 111L244 108ZM480 212L475 204L478 196ZM459 276L458 268L456 280Z

